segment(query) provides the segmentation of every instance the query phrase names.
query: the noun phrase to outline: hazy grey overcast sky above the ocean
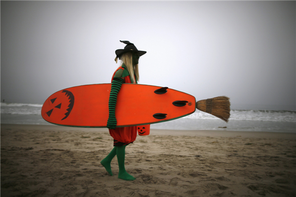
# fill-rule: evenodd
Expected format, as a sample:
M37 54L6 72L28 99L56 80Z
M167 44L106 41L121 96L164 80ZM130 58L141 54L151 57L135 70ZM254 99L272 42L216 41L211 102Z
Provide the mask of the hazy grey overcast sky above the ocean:
M1 101L109 83L133 42L141 84L232 109L296 110L295 1L0 1Z

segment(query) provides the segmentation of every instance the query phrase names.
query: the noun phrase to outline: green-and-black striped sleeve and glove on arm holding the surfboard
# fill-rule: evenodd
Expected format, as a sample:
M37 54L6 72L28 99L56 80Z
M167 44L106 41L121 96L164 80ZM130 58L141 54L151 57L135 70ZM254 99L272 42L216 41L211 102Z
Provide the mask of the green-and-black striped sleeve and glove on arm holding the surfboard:
M107 122L107 128L114 129L116 126L116 118L115 118L115 106L117 102L117 94L121 88L123 79L121 78L113 78L111 83L111 91L109 97L109 118Z

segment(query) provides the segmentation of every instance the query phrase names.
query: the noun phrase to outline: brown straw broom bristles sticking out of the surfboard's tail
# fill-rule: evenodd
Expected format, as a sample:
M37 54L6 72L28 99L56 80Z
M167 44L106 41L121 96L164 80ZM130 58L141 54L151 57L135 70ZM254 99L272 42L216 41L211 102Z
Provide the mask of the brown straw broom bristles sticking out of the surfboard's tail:
M209 113L217 118L228 122L230 117L230 102L226 96L218 96L211 99L196 102L196 108L200 111Z

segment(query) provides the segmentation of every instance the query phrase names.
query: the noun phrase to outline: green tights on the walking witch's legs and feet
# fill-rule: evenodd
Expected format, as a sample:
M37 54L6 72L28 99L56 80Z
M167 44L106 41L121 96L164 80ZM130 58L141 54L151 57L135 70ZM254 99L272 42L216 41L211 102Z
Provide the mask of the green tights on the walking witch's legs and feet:
M105 167L106 171L113 176L112 171L111 171L111 160L117 156L117 161L118 161L118 167L119 167L119 173L118 173L118 178L123 179L126 181L133 181L136 178L130 175L129 173L126 172L125 167L124 167L124 159L125 159L125 146L121 147L114 147L112 151L109 153L109 155L104 158L101 161L101 164Z

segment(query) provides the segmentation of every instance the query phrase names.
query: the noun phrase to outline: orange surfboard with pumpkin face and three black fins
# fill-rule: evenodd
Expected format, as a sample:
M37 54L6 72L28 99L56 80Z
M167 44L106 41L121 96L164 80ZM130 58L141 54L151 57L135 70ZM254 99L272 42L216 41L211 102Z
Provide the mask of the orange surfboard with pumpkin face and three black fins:
M75 127L107 127L111 83L60 90L44 102L46 121ZM167 87L123 83L117 96L116 127L153 124L195 112L192 95Z

